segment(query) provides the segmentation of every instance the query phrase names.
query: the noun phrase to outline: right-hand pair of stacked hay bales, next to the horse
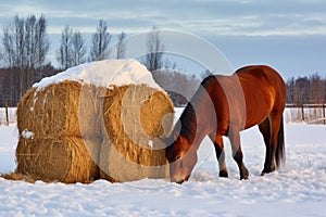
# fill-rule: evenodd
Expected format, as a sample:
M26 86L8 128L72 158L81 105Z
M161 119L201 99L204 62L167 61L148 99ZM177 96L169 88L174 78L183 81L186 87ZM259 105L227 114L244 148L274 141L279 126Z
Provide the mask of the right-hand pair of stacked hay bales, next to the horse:
M146 85L112 87L103 101L104 136L100 176L110 181L167 178L165 144L174 107L162 91Z

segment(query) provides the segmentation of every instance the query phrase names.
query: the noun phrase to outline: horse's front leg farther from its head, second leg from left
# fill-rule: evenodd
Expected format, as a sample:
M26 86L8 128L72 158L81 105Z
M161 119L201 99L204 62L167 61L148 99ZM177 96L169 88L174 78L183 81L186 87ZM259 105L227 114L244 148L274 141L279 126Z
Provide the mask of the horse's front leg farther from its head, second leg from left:
M234 159L236 161L236 163L239 167L240 179L248 179L249 171L243 164L243 154L241 151L239 130L230 130L228 133L228 138L231 143Z

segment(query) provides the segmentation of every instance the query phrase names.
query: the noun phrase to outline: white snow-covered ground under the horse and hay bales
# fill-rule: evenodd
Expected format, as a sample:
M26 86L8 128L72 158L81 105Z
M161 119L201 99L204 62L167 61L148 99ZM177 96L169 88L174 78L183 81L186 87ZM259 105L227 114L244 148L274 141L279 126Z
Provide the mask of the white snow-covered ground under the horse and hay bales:
M258 128L241 136L249 180L239 180L228 142L229 178L218 178L213 145L204 140L199 164L181 186L168 180L32 184L0 178L0 216L326 215L326 126L286 125L286 166L264 177L260 176L264 144ZM16 142L16 127L0 126L1 174L15 169Z

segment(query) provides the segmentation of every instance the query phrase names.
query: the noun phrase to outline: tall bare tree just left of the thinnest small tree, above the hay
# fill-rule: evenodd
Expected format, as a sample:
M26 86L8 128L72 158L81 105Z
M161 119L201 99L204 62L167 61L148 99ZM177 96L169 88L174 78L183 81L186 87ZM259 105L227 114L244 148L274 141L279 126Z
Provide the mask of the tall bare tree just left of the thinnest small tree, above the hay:
M108 31L106 22L100 20L97 31L92 35L90 46L90 61L100 61L110 55L109 44L112 35Z

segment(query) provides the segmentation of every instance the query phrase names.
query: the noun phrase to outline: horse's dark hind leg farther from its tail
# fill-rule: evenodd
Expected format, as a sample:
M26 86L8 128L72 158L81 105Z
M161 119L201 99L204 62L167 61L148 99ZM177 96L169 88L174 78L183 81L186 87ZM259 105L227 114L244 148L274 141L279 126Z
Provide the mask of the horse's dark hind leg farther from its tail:
M259 125L259 129L263 135L266 146L265 164L262 171L262 175L264 175L275 170L275 164L273 164L273 150L271 144L271 123L268 117L266 117L266 119Z

